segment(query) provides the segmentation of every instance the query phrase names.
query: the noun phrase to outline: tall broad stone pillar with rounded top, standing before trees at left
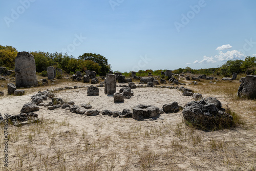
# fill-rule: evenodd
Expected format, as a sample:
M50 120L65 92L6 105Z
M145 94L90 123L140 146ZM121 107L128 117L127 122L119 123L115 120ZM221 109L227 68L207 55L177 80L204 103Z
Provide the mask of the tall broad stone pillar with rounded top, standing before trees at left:
M16 87L37 86L35 59L28 52L19 52L15 58Z

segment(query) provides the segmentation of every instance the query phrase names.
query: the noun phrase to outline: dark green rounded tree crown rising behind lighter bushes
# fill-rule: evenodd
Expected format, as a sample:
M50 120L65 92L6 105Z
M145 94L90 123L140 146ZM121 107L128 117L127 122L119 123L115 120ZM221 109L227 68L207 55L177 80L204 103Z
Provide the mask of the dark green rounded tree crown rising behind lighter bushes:
M78 59L83 59L83 60L92 60L96 63L99 64L101 67L100 72L98 74L100 75L106 75L111 69L108 59L106 59L104 56L100 54L93 54L93 53L84 53L78 57ZM96 72L96 71L95 71Z

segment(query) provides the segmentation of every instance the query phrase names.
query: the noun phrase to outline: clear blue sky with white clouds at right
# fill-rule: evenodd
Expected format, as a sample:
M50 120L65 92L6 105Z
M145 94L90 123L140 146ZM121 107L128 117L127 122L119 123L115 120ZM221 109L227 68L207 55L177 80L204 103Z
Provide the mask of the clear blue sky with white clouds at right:
M114 71L218 67L256 56L256 1L0 2L0 45L108 58Z

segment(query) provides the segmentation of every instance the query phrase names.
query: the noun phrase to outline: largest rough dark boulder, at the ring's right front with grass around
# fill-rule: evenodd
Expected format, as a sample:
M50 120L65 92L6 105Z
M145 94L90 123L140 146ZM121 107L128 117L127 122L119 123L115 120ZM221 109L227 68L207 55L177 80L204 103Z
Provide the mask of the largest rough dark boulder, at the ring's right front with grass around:
M182 111L183 117L190 124L203 130L219 130L233 124L233 117L221 108L221 102L216 98L191 101Z

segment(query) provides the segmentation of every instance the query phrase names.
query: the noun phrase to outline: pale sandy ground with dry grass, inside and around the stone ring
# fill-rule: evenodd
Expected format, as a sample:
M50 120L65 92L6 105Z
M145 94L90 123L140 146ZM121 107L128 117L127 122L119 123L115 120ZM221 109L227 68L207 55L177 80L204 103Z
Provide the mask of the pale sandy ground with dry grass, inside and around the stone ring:
M74 83L54 87L70 84ZM44 90L42 87L41 91ZM79 106L90 103L92 109L120 112L123 109L132 110L138 104L162 108L163 104L174 101L182 106L193 101L176 89L139 88L133 89L131 99L114 103L112 96L104 94L104 88L99 90L99 96L87 96L87 88L63 90L55 95L65 101L74 101ZM30 102L30 96L35 93L4 96L0 99L2 115L19 114L22 106ZM218 98L224 105L225 98ZM43 124L18 128L9 126L10 170L256 169L254 115L248 116L250 124L246 127L204 132L188 127L181 112L161 114L157 120L144 121L102 115L84 116L63 109L49 111L44 106L34 113L44 120ZM3 141L3 136L0 140ZM1 151L3 148L3 145L0 146ZM0 168L5 169L3 152L0 154Z

